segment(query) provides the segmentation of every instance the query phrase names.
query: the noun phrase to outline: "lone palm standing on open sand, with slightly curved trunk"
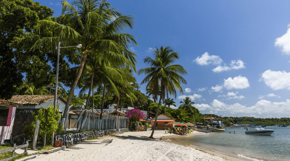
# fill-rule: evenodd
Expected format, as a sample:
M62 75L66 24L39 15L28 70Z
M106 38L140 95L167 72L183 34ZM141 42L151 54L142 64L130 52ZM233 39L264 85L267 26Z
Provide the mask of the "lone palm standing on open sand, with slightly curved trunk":
M172 65L179 59L179 54L174 52L171 47L163 48L161 46L160 49L155 47L153 55L153 59L149 56L144 59L144 62L151 67L142 68L138 71L138 74L147 74L141 84L148 83L146 89L152 89L153 98L157 97L160 87L160 97L150 138L153 138L161 100L164 100L166 96L168 97L168 94L176 98L176 90L183 93L180 84L186 84L186 81L181 75L187 74L181 65Z

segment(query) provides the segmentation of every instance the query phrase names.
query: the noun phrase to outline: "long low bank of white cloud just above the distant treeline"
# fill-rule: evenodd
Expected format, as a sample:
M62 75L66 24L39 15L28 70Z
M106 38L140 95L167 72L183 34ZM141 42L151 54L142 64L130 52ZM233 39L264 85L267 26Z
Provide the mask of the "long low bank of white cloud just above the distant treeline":
M238 116L256 116L256 117L287 117L290 115L290 99L285 102L270 102L267 100L260 100L253 106L245 106L239 103L226 104L217 99L213 100L210 105L208 104L196 104L194 107L199 111L222 111L224 115ZM279 109L279 110L277 110ZM273 114L275 114L273 116Z

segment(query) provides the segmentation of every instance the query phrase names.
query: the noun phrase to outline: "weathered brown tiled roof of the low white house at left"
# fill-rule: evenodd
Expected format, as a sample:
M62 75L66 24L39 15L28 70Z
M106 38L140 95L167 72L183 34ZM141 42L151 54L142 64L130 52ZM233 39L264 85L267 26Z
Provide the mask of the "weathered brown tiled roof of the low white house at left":
M60 97L60 95L57 95ZM8 101L18 103L20 105L40 105L41 103L51 101L54 99L54 95L14 95ZM66 103L66 100L60 98Z

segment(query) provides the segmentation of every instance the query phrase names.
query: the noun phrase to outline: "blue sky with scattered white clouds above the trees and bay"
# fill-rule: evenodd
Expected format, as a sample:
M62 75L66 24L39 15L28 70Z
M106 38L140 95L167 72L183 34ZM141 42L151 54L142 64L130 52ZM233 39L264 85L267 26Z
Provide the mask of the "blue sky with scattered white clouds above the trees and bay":
M60 15L60 0L38 2ZM149 67L143 59L155 47L179 53L175 64L187 71L187 84L177 107L188 96L202 114L290 117L290 1L106 2L135 17L135 28L125 33L137 39L138 46L130 46L137 70ZM139 84L145 77L135 76Z

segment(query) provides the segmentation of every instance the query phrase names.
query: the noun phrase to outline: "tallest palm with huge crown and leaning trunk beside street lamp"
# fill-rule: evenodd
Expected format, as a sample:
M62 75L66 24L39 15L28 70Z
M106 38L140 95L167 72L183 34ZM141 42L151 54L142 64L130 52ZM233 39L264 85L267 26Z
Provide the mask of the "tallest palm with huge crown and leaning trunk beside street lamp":
M116 11L116 8L110 8L111 5L105 0L75 0L71 5L62 1L61 5L63 6L63 15L60 17L62 24L41 20L40 29L51 32L52 37L38 40L32 48L45 46L47 50L54 50L57 41L62 41L63 46L83 45L77 50L82 60L67 98L62 116L62 122L64 122L87 56L102 55L105 59L120 59L120 55L124 55L127 58L124 62L130 63L129 67L136 70L134 63L136 55L128 48L129 44L137 45L137 43L132 35L121 33L127 28L133 29L134 18L122 15Z

